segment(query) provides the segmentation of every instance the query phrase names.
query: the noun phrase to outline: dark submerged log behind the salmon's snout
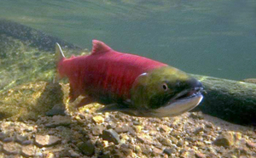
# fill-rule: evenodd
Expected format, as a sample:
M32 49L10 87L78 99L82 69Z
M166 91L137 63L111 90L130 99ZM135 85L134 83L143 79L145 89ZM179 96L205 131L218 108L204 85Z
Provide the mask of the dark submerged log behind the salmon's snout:
M256 125L256 84L192 76L202 82L207 92L195 110L241 125Z

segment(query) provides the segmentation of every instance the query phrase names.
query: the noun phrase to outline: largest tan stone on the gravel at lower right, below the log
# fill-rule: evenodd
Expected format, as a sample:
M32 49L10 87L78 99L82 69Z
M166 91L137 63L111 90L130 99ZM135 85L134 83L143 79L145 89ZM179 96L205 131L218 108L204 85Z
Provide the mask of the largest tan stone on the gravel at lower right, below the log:
M213 144L217 146L229 147L234 144L234 137L232 133L222 133L218 138L215 139Z

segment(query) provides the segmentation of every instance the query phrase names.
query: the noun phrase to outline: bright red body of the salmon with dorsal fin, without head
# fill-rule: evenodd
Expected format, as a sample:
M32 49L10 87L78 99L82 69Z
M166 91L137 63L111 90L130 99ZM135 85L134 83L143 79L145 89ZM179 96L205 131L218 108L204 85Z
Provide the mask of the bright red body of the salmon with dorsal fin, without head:
M130 99L130 89L137 76L161 66L166 64L119 53L94 40L90 55L64 58L58 70L61 76L69 78L72 101L84 95L101 104L111 104L111 100Z

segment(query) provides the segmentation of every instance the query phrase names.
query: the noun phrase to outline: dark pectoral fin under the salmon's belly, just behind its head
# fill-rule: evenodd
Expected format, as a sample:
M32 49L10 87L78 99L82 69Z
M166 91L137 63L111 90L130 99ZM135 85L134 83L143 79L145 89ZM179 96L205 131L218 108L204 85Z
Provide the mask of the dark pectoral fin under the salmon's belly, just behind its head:
M128 108L125 105L120 105L120 104L107 104L103 108L96 110L98 113L104 113L104 112L113 112L113 111L119 111L119 112L128 112L131 109Z

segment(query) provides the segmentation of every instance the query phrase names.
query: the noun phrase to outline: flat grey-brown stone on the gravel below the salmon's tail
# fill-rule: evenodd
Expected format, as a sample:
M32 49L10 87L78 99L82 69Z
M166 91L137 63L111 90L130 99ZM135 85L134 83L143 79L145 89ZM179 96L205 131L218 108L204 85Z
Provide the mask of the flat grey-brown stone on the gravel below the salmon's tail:
M52 121L47 123L45 127L67 127L71 124L71 119L68 116L53 116Z

